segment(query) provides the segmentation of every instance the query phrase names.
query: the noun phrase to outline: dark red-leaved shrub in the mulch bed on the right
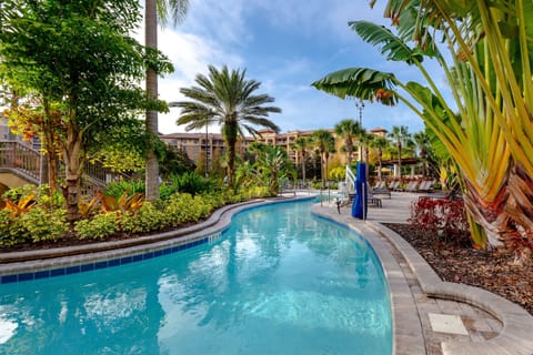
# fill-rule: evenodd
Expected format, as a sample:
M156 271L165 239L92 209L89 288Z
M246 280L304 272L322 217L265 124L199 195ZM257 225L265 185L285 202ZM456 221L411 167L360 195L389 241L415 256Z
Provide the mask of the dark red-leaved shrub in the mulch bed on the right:
M409 222L430 231L435 242L471 245L463 200L420 197L411 203Z

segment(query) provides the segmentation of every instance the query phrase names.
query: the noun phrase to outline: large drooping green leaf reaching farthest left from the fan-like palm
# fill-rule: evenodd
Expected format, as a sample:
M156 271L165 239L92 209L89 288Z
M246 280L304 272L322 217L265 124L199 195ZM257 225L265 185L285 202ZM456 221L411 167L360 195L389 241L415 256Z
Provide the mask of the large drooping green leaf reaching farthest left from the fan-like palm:
M341 99L356 98L361 100L378 100L386 105L398 103L395 78L368 68L348 68L332 72L312 83L319 90Z

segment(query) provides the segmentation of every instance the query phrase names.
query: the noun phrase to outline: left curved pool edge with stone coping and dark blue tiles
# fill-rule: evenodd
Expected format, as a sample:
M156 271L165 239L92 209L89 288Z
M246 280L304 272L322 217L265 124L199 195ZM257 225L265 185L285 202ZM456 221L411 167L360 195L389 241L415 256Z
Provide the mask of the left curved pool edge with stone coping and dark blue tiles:
M0 254L0 284L48 278L171 254L217 240L239 212L261 205L311 200L314 196L273 197L231 204L205 221L183 229L113 242Z

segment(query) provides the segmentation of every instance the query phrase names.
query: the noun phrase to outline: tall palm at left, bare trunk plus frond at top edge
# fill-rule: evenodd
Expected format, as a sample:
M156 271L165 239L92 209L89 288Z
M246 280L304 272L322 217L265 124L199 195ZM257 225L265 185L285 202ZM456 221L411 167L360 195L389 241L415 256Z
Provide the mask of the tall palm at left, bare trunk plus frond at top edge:
M165 24L170 14L174 24L181 21L188 11L189 0L145 0L144 2L144 42L148 48L158 49L158 14L161 24ZM155 68L147 68L147 94L158 99L158 72ZM147 111L147 170L145 199L159 199L159 163L154 150L158 136L158 112Z

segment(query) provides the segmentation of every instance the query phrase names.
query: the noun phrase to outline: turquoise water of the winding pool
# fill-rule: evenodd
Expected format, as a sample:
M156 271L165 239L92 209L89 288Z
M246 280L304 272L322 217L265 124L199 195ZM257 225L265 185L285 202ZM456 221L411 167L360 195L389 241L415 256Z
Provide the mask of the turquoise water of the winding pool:
M0 286L0 354L392 354L379 261L311 202L235 215L211 243Z

